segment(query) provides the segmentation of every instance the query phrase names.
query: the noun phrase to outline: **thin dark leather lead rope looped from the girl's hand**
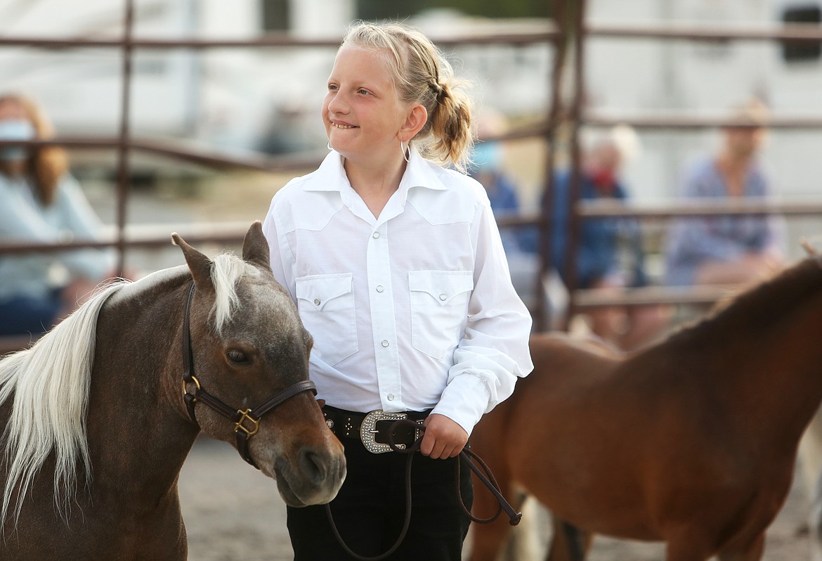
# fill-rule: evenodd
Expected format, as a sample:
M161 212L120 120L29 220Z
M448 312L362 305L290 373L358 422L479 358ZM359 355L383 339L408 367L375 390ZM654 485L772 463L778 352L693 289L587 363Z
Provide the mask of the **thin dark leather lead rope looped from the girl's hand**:
M403 543L405 539L405 535L408 533L409 525L411 524L411 464L413 462L414 453L418 452L420 444L423 442L423 438L420 437L413 444L408 447L398 448L394 443L394 436L396 434L396 427L399 424L407 424L409 425L409 429L419 429L421 432L425 431L425 426L417 424L413 420L398 420L391 424L391 429L389 433L389 445L394 452L400 452L403 454L408 454L408 460L405 461L405 519L403 522L403 529L399 531L399 537L394 542L394 545L391 545L390 549L388 549L385 553L376 555L376 557L366 557L364 555L360 555L354 553L351 548L345 543L343 537L339 535L339 530L337 529L337 525L334 522L334 516L331 514L331 506L330 503L326 503L326 517L328 517L329 525L331 526L331 531L334 533L335 538L339 545L343 548L345 553L349 554L353 559L358 559L359 561L381 561L381 559L386 559L390 554L393 554L398 548L399 545ZM499 507L496 510L496 514L494 514L490 518L478 518L474 517L469 509L465 506L465 502L462 498L462 492L459 490L459 462L455 463L455 484L457 486L457 496L459 497L459 506L462 507L465 516L469 517L473 522L477 522L478 524L490 524L494 522L498 517L500 517L503 511L506 512L508 515L508 523L511 526L516 526L520 523L522 519L522 512L516 512L513 507L511 507L510 503L506 500L504 496L502 496L502 491L500 489L500 485L496 483L496 479L494 479L494 475L491 473L491 468L482 460L482 458L478 457L475 453L471 452L468 448L463 448L462 452L459 452L459 460L468 462L468 466L473 471L475 475L477 475L478 479L485 485L491 493L496 498L496 502L499 503ZM482 467L482 471L478 468L473 462L477 461L479 465Z

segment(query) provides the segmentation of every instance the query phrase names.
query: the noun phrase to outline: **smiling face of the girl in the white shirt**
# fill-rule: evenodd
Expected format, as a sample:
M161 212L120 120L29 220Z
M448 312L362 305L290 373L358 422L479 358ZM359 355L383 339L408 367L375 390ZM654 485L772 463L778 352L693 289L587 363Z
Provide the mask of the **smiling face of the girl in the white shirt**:
M401 158L399 129L409 110L410 105L399 101L386 58L354 45L339 49L322 104L326 134L335 151L353 162Z

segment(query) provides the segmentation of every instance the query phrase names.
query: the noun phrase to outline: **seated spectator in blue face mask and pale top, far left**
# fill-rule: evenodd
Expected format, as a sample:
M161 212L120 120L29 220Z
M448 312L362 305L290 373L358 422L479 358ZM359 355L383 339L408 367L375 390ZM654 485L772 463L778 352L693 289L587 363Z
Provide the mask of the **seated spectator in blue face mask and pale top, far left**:
M48 121L33 102L0 95L0 140L51 136ZM68 174L62 148L0 148L0 242L99 239L100 226L79 183ZM0 253L0 336L48 331L112 269L108 250Z

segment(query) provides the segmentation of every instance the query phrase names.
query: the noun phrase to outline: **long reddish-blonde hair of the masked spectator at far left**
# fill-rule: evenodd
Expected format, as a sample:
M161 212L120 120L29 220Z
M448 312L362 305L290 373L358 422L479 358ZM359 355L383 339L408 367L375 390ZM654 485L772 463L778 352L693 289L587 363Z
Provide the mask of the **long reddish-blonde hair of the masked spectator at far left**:
M0 104L6 103L21 106L25 117L35 127L35 140L48 140L54 137L54 127L33 100L24 95L0 95ZM34 179L35 192L40 202L48 206L54 201L60 179L68 171L68 155L60 146L30 148L25 169Z

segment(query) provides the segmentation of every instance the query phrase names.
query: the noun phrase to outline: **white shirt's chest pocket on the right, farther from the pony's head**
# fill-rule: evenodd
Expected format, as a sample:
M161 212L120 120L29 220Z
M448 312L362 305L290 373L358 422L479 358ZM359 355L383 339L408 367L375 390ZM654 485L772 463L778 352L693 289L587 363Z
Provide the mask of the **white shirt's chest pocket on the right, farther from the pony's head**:
M411 344L445 359L463 336L473 290L471 271L411 271Z

